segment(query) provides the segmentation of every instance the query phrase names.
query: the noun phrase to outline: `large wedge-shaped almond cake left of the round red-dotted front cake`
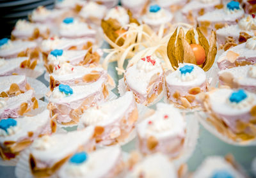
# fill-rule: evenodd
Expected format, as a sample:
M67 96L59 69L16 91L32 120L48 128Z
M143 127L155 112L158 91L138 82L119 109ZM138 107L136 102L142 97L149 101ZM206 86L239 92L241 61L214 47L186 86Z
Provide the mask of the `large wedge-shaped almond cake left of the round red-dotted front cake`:
M92 108L81 116L84 127L95 126L95 139L101 145L122 142L129 136L138 119L136 102L131 92Z

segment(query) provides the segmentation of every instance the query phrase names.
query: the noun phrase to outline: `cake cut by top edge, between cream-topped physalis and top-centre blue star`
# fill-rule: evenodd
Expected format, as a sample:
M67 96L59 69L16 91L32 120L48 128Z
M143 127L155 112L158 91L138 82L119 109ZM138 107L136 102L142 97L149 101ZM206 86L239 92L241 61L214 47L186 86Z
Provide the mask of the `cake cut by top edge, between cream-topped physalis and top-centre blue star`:
M147 8L148 0L121 0L121 3L124 8L132 12L134 17L138 18Z

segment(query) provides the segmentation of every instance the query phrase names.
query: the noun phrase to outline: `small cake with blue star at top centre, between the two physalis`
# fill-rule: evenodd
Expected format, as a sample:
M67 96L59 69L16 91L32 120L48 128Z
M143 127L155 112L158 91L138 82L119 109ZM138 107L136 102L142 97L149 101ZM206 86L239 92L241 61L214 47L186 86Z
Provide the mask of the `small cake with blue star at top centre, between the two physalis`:
M159 5L154 4L149 6L145 15L141 17L143 23L152 27L152 29L157 32L161 25L167 27L168 24L172 22L173 15L169 11L164 10Z

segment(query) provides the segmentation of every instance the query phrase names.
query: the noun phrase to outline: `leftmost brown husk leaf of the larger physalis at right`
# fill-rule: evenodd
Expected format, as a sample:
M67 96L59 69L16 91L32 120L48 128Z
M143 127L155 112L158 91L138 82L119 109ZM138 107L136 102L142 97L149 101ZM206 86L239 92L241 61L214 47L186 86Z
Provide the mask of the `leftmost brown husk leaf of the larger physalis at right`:
M176 68L179 67L179 65L178 65L178 63L175 59L175 41L176 41L176 36L177 36L177 30L178 30L178 27L176 28L176 30L172 34L170 40L168 41L168 45L167 45L168 58L170 60L170 63L172 64L172 66L176 67Z

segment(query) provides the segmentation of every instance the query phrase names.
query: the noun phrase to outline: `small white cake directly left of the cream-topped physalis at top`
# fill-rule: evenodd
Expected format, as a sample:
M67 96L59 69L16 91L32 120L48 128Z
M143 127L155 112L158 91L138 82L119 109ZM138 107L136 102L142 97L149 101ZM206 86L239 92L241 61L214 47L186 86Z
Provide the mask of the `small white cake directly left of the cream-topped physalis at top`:
M106 12L106 6L90 1L83 6L79 12L79 16L85 19L89 24L100 26L101 19L104 19Z

